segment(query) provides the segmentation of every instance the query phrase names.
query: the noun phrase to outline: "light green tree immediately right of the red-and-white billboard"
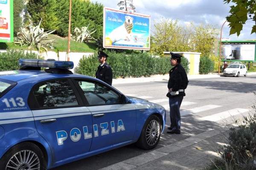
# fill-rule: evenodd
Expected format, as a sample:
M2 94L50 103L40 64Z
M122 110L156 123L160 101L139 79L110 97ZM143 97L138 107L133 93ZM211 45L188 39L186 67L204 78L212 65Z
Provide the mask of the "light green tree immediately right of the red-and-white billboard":
M21 14L25 7L24 0L13 0L13 31L14 35L17 35L20 27L22 27Z

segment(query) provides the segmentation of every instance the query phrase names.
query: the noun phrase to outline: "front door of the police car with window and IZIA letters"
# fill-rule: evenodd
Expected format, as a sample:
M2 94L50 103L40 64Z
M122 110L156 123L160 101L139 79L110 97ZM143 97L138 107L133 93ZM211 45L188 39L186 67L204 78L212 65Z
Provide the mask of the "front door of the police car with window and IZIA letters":
M131 142L136 128L134 105L121 102L121 94L100 82L76 80L92 113L91 150Z

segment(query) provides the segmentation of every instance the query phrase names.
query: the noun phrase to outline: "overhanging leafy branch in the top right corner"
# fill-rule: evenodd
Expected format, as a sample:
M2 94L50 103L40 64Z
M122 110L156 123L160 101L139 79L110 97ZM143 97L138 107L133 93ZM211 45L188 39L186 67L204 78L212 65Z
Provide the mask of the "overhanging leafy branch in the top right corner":
M230 15L227 16L227 21L230 23L230 35L240 35L243 25L247 20L255 21L252 26L251 34L256 33L256 1L255 0L224 0L225 3L235 3L230 6Z

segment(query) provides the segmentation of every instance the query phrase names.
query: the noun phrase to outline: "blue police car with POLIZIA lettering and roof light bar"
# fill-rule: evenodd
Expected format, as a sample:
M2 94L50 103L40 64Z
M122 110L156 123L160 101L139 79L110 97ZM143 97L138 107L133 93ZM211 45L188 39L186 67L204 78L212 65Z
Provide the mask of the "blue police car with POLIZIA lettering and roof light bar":
M0 71L0 170L45 170L132 143L149 150L159 142L162 106L73 74L70 61L19 64L20 70Z

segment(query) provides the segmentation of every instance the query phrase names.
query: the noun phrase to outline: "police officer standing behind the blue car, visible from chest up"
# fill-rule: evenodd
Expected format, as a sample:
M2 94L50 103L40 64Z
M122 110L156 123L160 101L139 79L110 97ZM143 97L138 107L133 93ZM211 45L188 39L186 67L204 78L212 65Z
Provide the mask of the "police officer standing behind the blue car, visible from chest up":
M100 65L98 66L98 69L96 71L96 78L108 83L109 85L112 85L112 69L106 62L108 55L105 54L103 51L98 51L98 54L98 60Z

